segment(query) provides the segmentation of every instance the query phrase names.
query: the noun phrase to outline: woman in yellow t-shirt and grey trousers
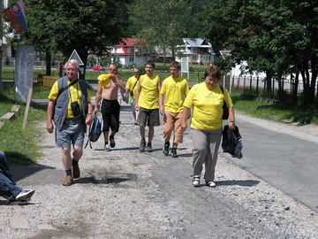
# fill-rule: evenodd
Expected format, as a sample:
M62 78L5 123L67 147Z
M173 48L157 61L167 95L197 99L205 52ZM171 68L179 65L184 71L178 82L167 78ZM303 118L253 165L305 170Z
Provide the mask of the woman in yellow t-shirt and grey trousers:
M190 109L193 108L191 131L193 138L193 186L200 186L200 177L205 164L204 179L209 187L216 187L215 169L217 150L221 143L223 128L223 100L229 107L229 127L235 129L234 108L229 92L220 88L221 72L217 66L208 66L205 81L189 91L184 103L181 127L186 130Z

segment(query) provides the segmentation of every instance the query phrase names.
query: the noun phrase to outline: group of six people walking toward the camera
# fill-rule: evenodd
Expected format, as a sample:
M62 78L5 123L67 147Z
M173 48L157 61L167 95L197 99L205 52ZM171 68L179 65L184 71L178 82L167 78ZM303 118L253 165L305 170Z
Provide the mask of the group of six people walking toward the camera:
M222 91L218 85L221 72L217 66L208 66L204 74L205 81L194 85L192 89L189 89L186 79L179 75L180 69L177 61L172 62L170 76L162 83L160 77L154 73L155 63L147 62L146 73L140 75L140 69L134 68L133 76L125 86L117 66L110 64L109 73L98 77L93 108L87 82L79 80L77 76L78 62L66 62L66 75L57 80L49 94L47 122L49 133L53 133L55 125L57 146L62 148L66 173L62 184L70 186L74 178L79 178L79 158L83 154L86 125L92 123L92 117L97 112L102 113L104 150L109 151L116 146L115 135L120 124L120 104L117 101L119 90L124 100L130 98L134 124L139 125L140 129L140 152L153 151L155 127L160 126L159 116L162 114L163 155L178 158L178 144L183 143L183 132L190 119L193 186L200 186L201 172L205 165L206 184L216 187L215 168L223 128L223 102L229 107L229 127L235 129L231 97L226 89Z

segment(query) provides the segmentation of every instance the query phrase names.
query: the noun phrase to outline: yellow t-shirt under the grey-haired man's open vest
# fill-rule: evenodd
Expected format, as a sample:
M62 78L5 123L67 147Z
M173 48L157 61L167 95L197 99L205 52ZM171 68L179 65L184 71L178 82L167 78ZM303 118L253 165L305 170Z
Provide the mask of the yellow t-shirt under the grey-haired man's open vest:
M70 84L71 81L67 81L67 84ZM74 118L73 113L72 113L72 108L71 108L71 102L77 101L79 103L79 109L80 111L82 110L82 103L81 103L81 90L79 87L79 82L73 84L69 89L69 94L71 94L69 103L67 105L67 112L66 112L66 118L67 119L72 119ZM90 102L91 98L89 96L89 90L87 90L87 101ZM50 90L49 93L49 99L50 100L57 100L57 94L58 94L58 83L57 81L54 83L52 89ZM72 101L71 101L72 98Z

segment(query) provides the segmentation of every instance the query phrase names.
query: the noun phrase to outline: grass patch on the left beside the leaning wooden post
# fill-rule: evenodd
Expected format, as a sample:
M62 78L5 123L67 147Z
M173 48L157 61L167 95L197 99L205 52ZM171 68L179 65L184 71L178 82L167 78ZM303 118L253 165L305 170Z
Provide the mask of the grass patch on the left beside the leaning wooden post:
M7 96L0 96L0 115L10 112L12 105L17 105ZM10 165L31 165L42 157L37 145L41 141L42 133L37 124L45 120L46 110L38 104L31 104L28 112L27 127L22 129L25 104L19 104L19 114L14 120L6 121L0 129L1 148Z

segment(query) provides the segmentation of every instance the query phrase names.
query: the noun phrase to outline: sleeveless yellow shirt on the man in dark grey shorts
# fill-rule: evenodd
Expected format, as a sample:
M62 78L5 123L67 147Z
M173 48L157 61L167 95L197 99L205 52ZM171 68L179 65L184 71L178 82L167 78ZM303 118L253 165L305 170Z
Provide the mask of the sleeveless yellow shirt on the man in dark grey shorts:
M145 109L159 109L158 76L148 77L147 74L140 76L141 92L138 105Z

